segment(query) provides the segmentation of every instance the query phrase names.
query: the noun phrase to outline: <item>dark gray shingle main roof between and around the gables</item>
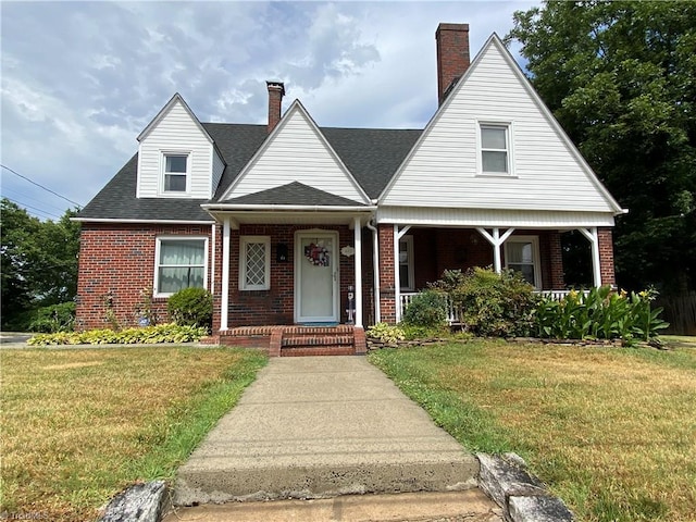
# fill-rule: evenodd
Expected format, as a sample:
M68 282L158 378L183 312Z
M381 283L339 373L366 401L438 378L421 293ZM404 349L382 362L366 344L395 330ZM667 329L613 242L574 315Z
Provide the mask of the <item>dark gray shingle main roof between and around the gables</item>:
M215 196L210 200L185 198L136 198L137 159L135 154L79 212L85 220L211 221L202 203L219 202L266 138L265 125L203 123L227 166ZM411 150L422 130L372 128L320 128L341 161L370 198L376 198ZM245 199L246 198L246 199ZM243 201L244 200L244 201ZM264 190L229 202L249 204L360 203L299 183Z

